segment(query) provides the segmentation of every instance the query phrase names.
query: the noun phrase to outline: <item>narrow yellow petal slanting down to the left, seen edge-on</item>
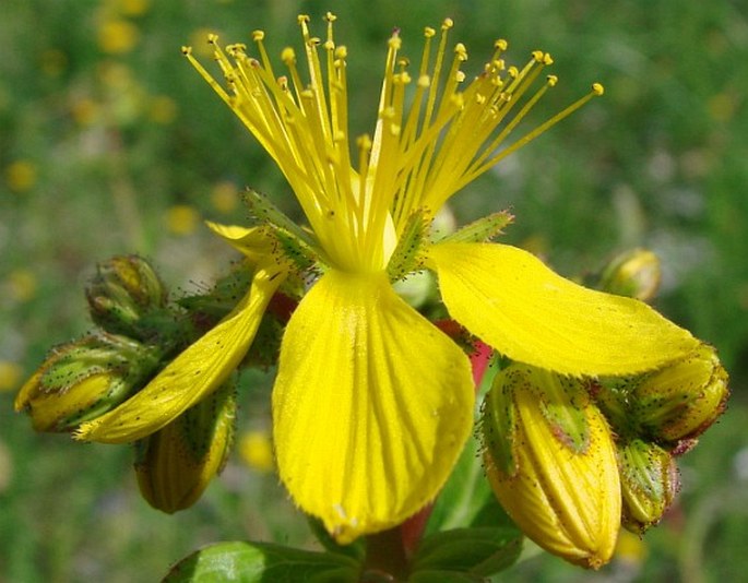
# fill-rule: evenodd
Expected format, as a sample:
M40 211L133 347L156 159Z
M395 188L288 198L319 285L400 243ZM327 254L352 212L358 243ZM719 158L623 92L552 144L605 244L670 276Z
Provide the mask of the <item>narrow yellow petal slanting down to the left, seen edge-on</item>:
M93 421L78 439L124 443L165 427L218 389L237 368L254 338L268 302L285 272L258 269L249 294L218 325L175 358L132 398Z

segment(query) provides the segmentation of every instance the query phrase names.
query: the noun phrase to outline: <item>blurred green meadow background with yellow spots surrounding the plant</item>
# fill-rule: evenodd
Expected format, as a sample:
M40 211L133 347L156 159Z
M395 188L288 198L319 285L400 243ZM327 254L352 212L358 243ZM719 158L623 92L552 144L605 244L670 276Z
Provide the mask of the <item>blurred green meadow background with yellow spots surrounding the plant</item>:
M12 412L51 345L90 326L96 261L139 252L177 294L234 258L201 217L246 222L251 186L298 215L280 172L180 55L268 33L298 45L296 14L337 13L353 132L370 131L385 41L418 58L424 25L455 20L476 72L497 37L520 64L543 48L559 85L538 122L599 81L595 99L454 199L461 221L509 207L507 240L567 275L646 246L664 262L658 308L721 350L729 411L680 460L666 520L584 573L539 556L508 581L738 581L748 572L748 7L741 0L1 0L0 582L154 581L198 545L310 535L262 462L270 377L248 376L235 455L175 516L138 495L127 448L40 436ZM207 60L207 59L203 59ZM257 460L257 456L260 460ZM247 460L254 459L248 463ZM744 579L745 580L745 579Z

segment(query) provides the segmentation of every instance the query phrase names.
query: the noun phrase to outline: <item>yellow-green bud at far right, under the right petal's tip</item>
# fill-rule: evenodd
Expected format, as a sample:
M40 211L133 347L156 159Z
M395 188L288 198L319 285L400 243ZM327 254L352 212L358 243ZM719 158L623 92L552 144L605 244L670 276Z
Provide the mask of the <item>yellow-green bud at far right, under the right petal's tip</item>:
M633 389L631 413L652 439L693 440L724 412L727 372L714 348L702 344L673 365L646 376Z

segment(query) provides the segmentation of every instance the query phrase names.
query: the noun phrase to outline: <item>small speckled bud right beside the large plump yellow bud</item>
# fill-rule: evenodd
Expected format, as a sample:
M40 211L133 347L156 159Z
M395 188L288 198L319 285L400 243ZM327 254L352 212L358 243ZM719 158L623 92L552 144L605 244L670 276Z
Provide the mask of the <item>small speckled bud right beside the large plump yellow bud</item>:
M678 493L678 468L669 452L641 439L619 443L617 453L624 526L643 533L660 522Z

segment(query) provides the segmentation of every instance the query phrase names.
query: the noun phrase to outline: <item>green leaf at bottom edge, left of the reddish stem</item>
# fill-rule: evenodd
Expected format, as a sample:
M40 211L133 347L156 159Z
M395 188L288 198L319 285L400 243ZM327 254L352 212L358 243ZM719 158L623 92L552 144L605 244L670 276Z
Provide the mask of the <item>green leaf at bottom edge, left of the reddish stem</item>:
M345 583L358 581L360 566L348 557L270 543L217 543L175 564L163 583Z

